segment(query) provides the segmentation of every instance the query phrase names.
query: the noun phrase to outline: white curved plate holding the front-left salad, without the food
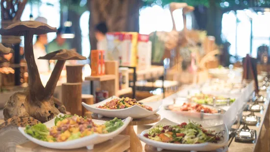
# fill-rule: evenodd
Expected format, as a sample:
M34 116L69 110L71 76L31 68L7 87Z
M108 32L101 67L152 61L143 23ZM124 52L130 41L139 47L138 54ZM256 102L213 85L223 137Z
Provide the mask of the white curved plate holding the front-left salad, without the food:
M58 116L60 116L60 115L64 115L64 114L60 113ZM44 125L46 125L48 128L55 126L54 119L50 120L49 122L44 123ZM124 119L123 126L118 128L117 130L115 130L113 132L110 132L110 133L106 133L106 134L94 133L92 135L82 137L79 139L65 141L65 142L54 142L54 143L41 141L41 140L38 140L38 139L26 134L24 131L25 127L19 127L19 130L26 138L28 138L30 141L32 141L40 146L44 146L44 147L48 147L48 148L52 148L52 149L65 149L65 150L86 147L88 150L92 150L94 148L94 145L102 143L102 142L107 141L109 139L112 139L113 137L120 134L125 129L125 127L127 127L127 125L129 124L129 122L131 120L132 120L131 117ZM93 122L95 124L104 124L105 123L105 121L95 120L95 119L93 119Z

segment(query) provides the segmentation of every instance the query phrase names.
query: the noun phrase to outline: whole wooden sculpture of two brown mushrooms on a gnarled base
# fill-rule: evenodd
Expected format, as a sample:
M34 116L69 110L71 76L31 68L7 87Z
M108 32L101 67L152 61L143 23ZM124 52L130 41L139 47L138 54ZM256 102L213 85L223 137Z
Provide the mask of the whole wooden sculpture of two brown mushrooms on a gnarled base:
M82 59L79 54L71 51L56 51L41 57L51 57L50 59L58 59L52 75L44 88L42 85L37 65L34 60L33 53L33 35L56 32L55 27L36 21L17 22L9 25L6 28L0 29L1 35L24 36L25 37L25 60L28 67L29 85L23 92L13 94L9 101L4 106L4 119L8 120L12 117L33 117L44 123L54 118L61 112L65 113L63 106L56 108L55 99L52 94L56 87L56 83L67 59ZM54 54L54 55L53 55ZM62 55L63 58L55 58L57 55ZM73 56L72 56L73 55ZM79 57L78 57L79 56ZM53 58L54 57L54 58Z

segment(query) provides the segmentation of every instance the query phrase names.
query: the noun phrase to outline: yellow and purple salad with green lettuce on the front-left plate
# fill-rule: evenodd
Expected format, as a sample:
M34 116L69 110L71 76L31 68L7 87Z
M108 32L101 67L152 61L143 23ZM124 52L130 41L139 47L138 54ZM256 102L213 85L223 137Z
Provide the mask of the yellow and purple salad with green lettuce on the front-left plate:
M102 125L95 124L92 119L77 115L64 115L54 120L55 126L50 129L44 124L25 127L25 133L47 142L64 142L89 136L93 133L109 133L123 126L121 119L114 118Z

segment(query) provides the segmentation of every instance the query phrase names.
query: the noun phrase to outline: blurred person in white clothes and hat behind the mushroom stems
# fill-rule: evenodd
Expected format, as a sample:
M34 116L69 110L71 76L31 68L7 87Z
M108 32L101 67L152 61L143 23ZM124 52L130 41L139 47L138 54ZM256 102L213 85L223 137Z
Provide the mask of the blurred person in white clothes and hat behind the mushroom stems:
M47 24L47 19L44 17L38 17L35 21L43 22ZM38 67L39 73L49 72L49 62L48 60L40 60L38 59L41 56L45 56L47 54L45 46L48 44L47 34L41 34L37 36L37 41L33 45L34 58L36 65Z

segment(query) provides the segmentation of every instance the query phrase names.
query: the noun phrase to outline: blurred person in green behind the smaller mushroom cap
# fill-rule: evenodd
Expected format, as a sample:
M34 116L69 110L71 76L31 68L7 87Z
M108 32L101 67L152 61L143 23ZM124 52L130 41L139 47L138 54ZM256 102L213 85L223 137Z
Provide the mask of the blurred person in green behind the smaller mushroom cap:
M70 50L71 49L71 46L68 42L66 42L66 39L65 38L62 38L61 37L61 31L62 31L62 27L59 27L57 29L57 32L56 32L56 38L54 40L52 40L46 47L46 51L47 53L50 53L50 52L53 52L53 51L58 51L58 50L61 50L61 49L67 49L67 50Z

